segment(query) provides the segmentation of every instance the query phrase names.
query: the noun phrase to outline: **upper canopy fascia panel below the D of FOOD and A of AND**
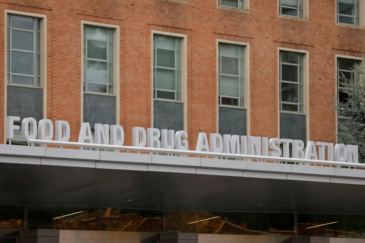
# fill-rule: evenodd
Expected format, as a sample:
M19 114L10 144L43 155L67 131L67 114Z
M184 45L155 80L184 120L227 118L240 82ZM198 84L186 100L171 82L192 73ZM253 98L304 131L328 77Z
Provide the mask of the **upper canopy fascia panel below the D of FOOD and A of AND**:
M46 148L45 158L96 162L100 160L100 152L84 149Z

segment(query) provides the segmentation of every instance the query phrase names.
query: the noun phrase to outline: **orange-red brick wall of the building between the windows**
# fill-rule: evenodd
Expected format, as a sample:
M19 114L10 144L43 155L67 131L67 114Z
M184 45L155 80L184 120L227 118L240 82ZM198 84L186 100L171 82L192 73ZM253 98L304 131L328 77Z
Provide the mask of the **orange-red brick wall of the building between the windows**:
M335 141L335 54L361 55L365 30L335 24L335 0L310 1L310 21L277 16L277 0L251 0L250 13L219 9L216 0L2 0L13 9L47 15L47 117L70 122L77 140L81 117L81 20L120 26L120 124L150 127L150 30L188 36L188 134L216 132L216 39L250 43L251 134L278 136L277 47L310 52L310 140ZM4 26L4 17L0 25ZM0 46L4 47L4 28ZM0 52L4 60L4 51ZM4 77L4 62L0 62ZM0 95L4 86L0 86ZM4 115L4 99L0 99ZM1 136L4 120L0 120Z

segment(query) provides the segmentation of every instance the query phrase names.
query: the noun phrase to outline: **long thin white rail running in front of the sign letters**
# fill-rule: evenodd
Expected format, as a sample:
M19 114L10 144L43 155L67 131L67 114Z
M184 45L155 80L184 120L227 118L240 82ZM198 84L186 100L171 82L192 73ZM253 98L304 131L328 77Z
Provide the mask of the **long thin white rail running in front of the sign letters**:
M232 153L216 153L216 152L199 152L195 150L179 150L179 149L162 149L162 148L149 148L149 147L136 147L136 146L119 146L119 145L106 145L106 144L89 144L81 142L63 142L63 141L53 141L53 140L39 140L39 139L29 139L28 144L34 145L53 145L53 146L63 146L77 147L77 148L95 148L95 149L111 149L115 152L117 151L135 151L135 152L148 152L148 153L167 153L167 154L180 154L180 156L197 156L197 157L213 157L213 158L235 158L237 160L248 160L248 161L279 161L279 162L292 162L301 164L316 164L316 165L330 165L334 167L348 166L352 169L365 168L365 164L358 163L347 163L347 162L336 162L327 160L308 160L303 158L284 158L284 157L272 157L272 156L258 156L258 155L247 155L247 154L232 154Z

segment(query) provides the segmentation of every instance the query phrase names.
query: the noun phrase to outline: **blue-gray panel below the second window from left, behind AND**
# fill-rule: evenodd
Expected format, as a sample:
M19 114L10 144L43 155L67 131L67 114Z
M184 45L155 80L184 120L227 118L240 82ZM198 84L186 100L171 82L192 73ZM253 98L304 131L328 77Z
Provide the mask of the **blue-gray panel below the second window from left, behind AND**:
M115 124L115 97L107 95L84 94L84 122L94 128L96 123Z

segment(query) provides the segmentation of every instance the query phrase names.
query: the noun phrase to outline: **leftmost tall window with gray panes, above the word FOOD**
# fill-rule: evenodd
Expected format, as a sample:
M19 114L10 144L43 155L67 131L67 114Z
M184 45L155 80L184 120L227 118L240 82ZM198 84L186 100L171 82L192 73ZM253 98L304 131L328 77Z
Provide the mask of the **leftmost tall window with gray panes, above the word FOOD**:
M7 16L8 83L41 86L41 20Z

